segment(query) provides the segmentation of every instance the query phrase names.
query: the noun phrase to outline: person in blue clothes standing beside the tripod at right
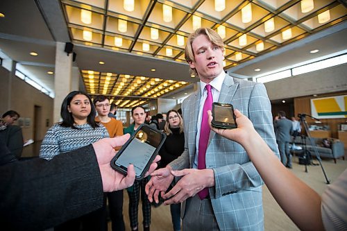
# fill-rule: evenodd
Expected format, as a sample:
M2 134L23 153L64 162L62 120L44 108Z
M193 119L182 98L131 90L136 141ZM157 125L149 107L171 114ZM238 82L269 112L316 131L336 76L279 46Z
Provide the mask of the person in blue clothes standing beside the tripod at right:
M289 151L290 135L293 132L293 124L285 117L285 112L280 111L273 121L276 141L280 150L282 164L291 169L291 153Z

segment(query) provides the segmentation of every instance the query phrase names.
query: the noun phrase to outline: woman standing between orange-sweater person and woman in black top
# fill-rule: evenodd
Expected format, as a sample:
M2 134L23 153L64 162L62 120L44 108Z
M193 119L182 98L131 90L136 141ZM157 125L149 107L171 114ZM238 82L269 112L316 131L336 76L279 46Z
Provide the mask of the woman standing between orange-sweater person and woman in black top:
M133 117L134 123L132 123L128 128L124 129L124 134L133 135L135 130L144 123L146 118L146 112L142 106L135 106L131 109L131 117ZM149 226L151 225L151 203L147 198L144 187L146 183L149 182L149 177L143 178L142 180L135 180L134 185L127 189L129 196L129 219L131 230L139 230L138 223L138 210L139 210L139 198L141 194L142 200L142 216L144 231L149 231Z

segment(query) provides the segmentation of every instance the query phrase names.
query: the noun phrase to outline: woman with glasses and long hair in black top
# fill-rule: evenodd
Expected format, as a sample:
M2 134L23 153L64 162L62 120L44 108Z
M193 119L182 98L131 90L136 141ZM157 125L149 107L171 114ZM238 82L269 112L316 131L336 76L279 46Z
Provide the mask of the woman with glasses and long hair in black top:
M176 160L183 151L185 151L185 133L183 132L183 119L176 110L169 110L167 123L164 127L164 132L167 134L162 148L160 148L159 155L160 168L164 168L171 161ZM170 189L170 188L169 188ZM180 230L180 203L170 205L172 224L174 231Z

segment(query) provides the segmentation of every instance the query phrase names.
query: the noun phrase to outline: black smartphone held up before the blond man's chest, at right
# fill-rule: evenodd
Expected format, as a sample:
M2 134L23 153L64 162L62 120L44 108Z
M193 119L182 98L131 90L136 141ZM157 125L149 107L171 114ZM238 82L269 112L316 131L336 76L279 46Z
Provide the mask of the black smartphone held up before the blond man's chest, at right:
M212 126L215 128L237 128L234 108L229 103L212 104Z

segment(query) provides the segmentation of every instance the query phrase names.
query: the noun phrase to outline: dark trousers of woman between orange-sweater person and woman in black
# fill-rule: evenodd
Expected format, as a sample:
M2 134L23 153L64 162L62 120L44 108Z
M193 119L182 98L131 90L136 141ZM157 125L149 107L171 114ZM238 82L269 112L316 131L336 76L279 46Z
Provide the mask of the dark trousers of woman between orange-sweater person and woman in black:
M149 227L151 224L151 203L147 198L146 191L144 191L144 187L146 187L147 182L149 182L149 178L144 178L142 180L135 180L132 189L128 189L129 195L129 219L131 228L138 227L138 210L139 210L139 197L141 196L142 200L142 216L144 217L143 225L144 227Z

